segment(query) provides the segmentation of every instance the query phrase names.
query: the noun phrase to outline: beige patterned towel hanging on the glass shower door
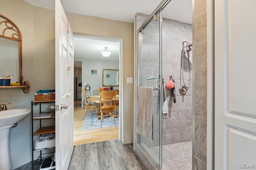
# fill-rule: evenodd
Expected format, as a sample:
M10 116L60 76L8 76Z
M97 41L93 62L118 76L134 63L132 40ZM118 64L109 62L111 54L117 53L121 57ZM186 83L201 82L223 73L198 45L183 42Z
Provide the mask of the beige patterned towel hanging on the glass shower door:
M152 142L154 140L152 87L139 87L136 129L137 133L143 135L148 141Z

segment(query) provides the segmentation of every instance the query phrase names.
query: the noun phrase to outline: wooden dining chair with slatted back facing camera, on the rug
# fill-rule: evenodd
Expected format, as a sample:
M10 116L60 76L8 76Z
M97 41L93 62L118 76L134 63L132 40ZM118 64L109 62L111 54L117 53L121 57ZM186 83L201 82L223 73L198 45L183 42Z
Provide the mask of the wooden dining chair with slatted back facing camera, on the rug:
M100 99L102 105L100 106L100 127L102 127L102 119L112 119L116 126L116 90L114 91L100 91Z

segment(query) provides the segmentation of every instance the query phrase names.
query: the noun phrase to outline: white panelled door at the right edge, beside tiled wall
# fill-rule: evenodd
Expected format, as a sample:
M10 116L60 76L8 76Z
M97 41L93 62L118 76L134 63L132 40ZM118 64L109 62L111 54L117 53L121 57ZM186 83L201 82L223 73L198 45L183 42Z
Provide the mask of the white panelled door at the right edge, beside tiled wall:
M216 170L256 169L255 8L214 1Z

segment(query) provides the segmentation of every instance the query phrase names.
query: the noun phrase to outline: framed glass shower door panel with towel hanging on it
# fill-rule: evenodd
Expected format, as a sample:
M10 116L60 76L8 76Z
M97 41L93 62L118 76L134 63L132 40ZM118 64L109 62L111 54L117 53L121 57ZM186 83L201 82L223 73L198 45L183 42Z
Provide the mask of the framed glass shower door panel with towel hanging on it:
M138 143L154 164L162 168L162 41L159 16L160 14L155 15L139 32L139 86L153 87L154 140L150 142L139 135Z

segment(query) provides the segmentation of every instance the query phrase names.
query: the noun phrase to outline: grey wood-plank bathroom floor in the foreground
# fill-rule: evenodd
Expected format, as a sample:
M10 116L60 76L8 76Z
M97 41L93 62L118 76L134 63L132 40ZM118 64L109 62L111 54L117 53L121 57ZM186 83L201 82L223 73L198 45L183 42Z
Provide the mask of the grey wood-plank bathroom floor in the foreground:
M68 170L146 170L132 147L118 139L75 146Z

